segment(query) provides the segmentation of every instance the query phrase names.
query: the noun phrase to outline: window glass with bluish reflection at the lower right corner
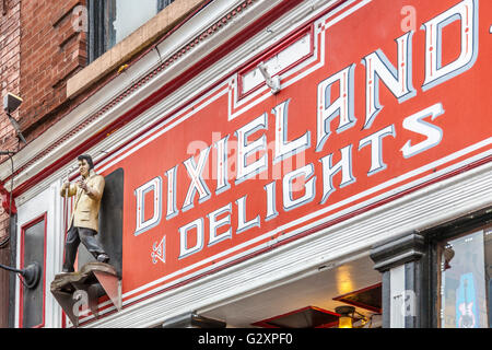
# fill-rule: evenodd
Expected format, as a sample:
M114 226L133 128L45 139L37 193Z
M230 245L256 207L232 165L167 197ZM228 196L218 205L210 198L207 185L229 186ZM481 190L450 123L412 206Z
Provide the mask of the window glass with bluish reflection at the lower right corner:
M491 326L492 230L477 230L438 247L443 328Z

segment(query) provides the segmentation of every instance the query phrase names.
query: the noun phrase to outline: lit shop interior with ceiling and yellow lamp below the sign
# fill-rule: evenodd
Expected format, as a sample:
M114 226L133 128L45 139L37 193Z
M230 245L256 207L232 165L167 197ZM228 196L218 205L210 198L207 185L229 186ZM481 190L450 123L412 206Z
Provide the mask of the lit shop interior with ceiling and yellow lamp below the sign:
M336 267L320 266L308 276L293 277L197 314L230 328L378 328L382 283L373 266L368 256Z

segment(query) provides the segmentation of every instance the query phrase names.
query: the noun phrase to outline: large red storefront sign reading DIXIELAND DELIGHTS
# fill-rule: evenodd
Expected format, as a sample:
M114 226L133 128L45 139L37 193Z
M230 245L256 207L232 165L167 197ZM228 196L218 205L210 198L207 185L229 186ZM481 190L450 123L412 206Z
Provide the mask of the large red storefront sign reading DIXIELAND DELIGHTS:
M490 13L344 1L106 159L125 171L124 303L490 161Z

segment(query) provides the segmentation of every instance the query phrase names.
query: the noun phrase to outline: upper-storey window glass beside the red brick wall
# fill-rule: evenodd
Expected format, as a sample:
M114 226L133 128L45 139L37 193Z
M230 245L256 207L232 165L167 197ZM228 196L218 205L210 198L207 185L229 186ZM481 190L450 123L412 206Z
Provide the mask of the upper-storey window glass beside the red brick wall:
M92 62L174 0L89 0L89 62Z

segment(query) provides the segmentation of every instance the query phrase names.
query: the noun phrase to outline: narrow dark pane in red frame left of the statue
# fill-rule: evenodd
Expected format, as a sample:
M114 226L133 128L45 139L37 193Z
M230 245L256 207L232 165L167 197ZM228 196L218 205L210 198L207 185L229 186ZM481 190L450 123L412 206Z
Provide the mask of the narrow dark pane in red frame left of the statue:
M45 221L42 220L24 231L24 264L36 261L43 268L45 260ZM44 271L42 271L44 273ZM35 289L23 288L22 327L43 324L44 284L39 279Z

